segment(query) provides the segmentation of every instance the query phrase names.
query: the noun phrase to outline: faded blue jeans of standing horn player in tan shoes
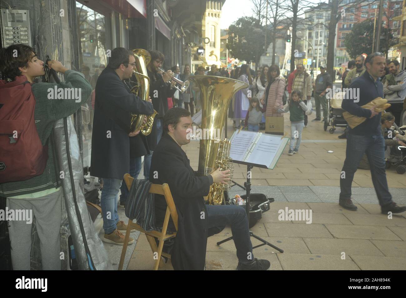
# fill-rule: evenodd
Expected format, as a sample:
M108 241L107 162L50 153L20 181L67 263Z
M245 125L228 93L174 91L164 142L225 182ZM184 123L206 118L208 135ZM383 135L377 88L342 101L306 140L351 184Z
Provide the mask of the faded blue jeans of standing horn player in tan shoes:
M104 185L100 205L102 206L103 229L105 234L111 234L117 229L119 214L117 213L117 203L119 202L119 189L121 179L103 178Z

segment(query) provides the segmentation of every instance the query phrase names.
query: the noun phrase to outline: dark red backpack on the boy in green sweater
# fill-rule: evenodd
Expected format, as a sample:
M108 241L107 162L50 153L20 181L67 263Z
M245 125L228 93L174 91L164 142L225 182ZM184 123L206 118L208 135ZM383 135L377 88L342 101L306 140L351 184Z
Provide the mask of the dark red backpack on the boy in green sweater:
M48 160L34 120L35 98L25 76L0 80L0 183L41 175Z

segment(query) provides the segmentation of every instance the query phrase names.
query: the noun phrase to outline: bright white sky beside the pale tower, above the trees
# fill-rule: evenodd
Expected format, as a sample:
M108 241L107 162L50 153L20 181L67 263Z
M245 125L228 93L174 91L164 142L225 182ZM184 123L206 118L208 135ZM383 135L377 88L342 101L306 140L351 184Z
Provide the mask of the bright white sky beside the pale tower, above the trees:
M309 2L319 3L320 1L309 0ZM226 0L221 9L220 28L228 29L231 23L240 17L252 16L253 8L254 4L251 0Z

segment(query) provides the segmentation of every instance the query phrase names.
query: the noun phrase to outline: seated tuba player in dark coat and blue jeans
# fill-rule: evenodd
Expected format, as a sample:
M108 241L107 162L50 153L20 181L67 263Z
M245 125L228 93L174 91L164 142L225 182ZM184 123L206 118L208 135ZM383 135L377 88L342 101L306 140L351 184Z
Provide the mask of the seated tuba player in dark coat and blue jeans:
M207 237L231 226L237 249L238 270L268 270L268 260L253 256L244 208L236 205L206 205L213 183L228 183L230 171L217 169L206 176L197 176L181 146L190 143L188 132L192 128L190 112L173 108L164 116L164 133L152 155L149 172L152 183L168 183L178 214L178 231L171 261L175 270L203 270ZM162 227L166 211L163 196L155 195L156 226ZM168 230L175 231L172 219Z

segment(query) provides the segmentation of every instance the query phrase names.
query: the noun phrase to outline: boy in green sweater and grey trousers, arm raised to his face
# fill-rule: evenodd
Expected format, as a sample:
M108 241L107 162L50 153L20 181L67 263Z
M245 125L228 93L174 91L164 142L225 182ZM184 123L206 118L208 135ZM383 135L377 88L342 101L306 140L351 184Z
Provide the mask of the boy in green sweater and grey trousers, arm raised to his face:
M2 122L6 123L4 119L9 120L13 117L13 115L4 115L2 109L13 111L12 105L15 102L21 102L21 98L18 98L19 95L24 94L21 90L24 89L27 93L26 88L29 87L27 84L30 84L31 88L28 88L28 95L26 93L25 95L30 98L27 100L30 103L32 103L32 96L35 98L34 119L31 121L35 122L38 134L35 136L39 137L44 148L44 154L48 153L48 158L45 157L45 167L42 167L43 171L41 168L41 171L37 172L34 177L27 175L21 177L19 181L1 183L0 196L7 198L6 203L9 211L27 210L35 217L40 240L42 268L43 270L60 270L62 190L60 188L61 183L58 181L59 172L57 172L58 167L56 160L54 160L52 140L48 141L48 139L55 121L75 113L83 103L82 100L89 98L92 88L82 73L68 70L56 60L50 61L48 65L56 72L63 73L65 82L59 84L33 83L36 77L45 74L44 62L39 60L34 49L27 45L11 45L8 48L0 49L0 57L2 57L0 71L14 82L13 84L13 82L0 81L0 130L2 130ZM15 84L15 82L21 82L21 84ZM80 90L81 96L79 100L77 98L63 99L55 95L51 96L48 89L52 89L54 92L55 86L63 90L66 88ZM15 92L11 91L10 88L15 88ZM22 109L24 109L24 105L22 105ZM18 117L23 116L20 113ZM14 118L18 121L18 117ZM31 123L24 123L24 125L30 126ZM24 130L17 139L14 139L13 136L13 140L10 136L0 134L0 144L5 147L5 149L2 148L2 151L11 148L9 145L18 143L23 137L27 138L24 136ZM24 148L24 151L29 152L30 148ZM2 158L4 159L5 156L0 153L0 162ZM44 158L42 159L44 160ZM32 160L32 163L35 162ZM16 167L12 163L9 166ZM11 260L14 270L30 270L31 228L32 220L31 222L26 220L9 221Z

